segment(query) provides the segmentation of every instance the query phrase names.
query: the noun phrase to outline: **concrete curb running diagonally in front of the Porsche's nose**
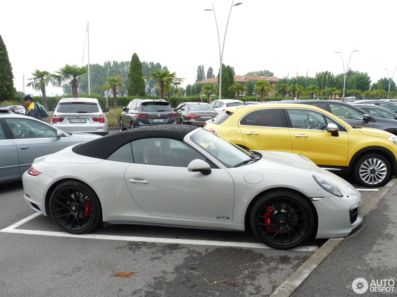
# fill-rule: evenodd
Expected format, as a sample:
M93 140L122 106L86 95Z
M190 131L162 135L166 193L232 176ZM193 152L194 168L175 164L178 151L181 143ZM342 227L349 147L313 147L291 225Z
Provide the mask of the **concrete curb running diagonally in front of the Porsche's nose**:
M391 179L380 190L374 198L372 198L366 205L361 208L361 216L364 217L371 209L385 196L387 192L397 183L397 178ZM314 269L331 253L331 251L338 246L343 240L342 238L330 238L323 244L309 259L307 259L301 267L299 267L293 274L291 274L273 293L270 297L288 297L303 281L313 272Z

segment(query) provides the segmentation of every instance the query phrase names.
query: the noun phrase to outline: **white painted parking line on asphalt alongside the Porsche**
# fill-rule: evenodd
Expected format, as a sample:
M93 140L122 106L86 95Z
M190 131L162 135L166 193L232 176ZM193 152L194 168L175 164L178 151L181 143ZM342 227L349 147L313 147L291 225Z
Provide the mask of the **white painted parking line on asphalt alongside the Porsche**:
M25 219L0 230L6 233L19 233L19 234L33 234L33 235L46 235L46 236L59 236L59 237L75 237L75 238L88 238L88 239L104 239L104 240L119 240L119 241L134 241L134 242L158 242L165 244L193 244L198 246L229 246L229 247L247 247L247 248L260 248L272 249L265 244L252 243L252 242L224 242L217 240L196 240L196 239L179 239L179 238L158 238L158 237L142 237L142 236L120 236L120 235L104 235L104 234L71 234L66 232L56 231L41 231L41 230L25 230L17 229L17 227L25 224L26 222L38 217L40 213L29 215ZM301 246L295 247L293 251L314 251L318 246Z

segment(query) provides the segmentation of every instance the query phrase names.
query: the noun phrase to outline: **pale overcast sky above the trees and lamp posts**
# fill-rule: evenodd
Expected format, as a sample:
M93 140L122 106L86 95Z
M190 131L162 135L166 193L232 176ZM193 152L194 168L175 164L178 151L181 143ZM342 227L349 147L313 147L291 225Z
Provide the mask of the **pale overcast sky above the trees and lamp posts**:
M372 82L390 76L397 66L395 0L264 1L237 0L227 28L223 63L236 74L268 69L278 77L315 76L316 70L366 71ZM231 0L214 0L221 46ZM207 0L4 1L0 35L10 57L17 91L23 72L56 71L81 65L87 21L90 63L130 60L166 65L183 85L195 82L198 65L219 69L214 13ZM106 20L109 21L106 21ZM87 49L87 48L86 48ZM84 64L87 63L87 53ZM396 71L397 72L397 71ZM397 76L397 74L396 74ZM27 93L37 91L26 88ZM48 88L47 95L62 94Z

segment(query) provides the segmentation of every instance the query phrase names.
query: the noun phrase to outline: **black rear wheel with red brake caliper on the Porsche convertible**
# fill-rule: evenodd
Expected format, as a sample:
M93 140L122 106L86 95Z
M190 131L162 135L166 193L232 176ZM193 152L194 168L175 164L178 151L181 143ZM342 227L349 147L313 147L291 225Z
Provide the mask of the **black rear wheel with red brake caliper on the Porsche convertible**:
M65 181L50 197L50 214L62 229L74 234L91 231L102 221L96 194L84 183Z

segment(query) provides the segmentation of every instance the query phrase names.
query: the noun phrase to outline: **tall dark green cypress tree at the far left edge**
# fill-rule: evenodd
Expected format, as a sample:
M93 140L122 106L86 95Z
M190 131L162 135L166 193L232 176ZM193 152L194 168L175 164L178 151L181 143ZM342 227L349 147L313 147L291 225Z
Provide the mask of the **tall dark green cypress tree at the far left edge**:
M12 67L8 59L6 45L0 35L0 101L13 99L14 97Z

